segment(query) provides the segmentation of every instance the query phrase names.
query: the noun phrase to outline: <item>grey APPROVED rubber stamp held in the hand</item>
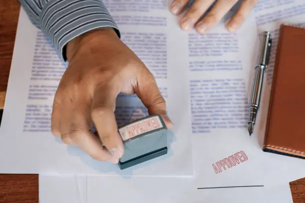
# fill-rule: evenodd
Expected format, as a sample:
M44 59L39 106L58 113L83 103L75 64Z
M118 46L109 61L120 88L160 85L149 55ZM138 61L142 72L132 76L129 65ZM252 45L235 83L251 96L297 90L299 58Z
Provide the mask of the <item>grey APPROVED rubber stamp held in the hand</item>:
M121 170L167 154L167 128L160 115L150 115L119 128L124 155Z

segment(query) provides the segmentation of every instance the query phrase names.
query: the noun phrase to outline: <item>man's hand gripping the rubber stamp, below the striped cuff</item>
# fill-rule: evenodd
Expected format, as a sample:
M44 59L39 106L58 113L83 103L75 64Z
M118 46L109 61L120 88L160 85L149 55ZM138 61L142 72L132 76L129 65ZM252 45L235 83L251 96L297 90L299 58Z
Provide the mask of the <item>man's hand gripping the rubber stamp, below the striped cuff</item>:
M161 114L165 102L154 77L112 28L85 33L67 45L69 66L54 97L52 133L79 146L92 158L117 163L124 154L115 119L119 93L137 94L150 114ZM90 129L95 124L98 136Z

